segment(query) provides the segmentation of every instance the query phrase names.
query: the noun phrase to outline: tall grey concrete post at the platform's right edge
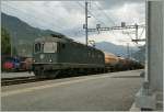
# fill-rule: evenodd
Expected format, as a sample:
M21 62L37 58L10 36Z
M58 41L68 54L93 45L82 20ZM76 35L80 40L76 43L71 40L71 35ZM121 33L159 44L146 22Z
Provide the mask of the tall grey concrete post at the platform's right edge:
M145 78L136 97L136 105L142 110L162 109L160 104L163 98L163 1L147 2Z

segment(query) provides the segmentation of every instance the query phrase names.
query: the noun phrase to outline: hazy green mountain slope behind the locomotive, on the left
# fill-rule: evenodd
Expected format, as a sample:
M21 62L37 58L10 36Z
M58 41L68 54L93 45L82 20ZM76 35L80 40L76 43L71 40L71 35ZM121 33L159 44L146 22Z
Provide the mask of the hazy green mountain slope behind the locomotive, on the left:
M50 34L62 35L50 30L33 27L22 20L5 13L1 13L1 26L10 33L12 44L16 47L19 55L31 56L32 43L37 37Z

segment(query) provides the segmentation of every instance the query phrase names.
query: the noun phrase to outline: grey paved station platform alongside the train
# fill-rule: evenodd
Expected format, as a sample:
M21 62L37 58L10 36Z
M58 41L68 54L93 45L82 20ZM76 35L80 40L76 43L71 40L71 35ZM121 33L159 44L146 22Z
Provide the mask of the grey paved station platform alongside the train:
M141 72L130 70L4 86L2 111L129 111L141 87Z

